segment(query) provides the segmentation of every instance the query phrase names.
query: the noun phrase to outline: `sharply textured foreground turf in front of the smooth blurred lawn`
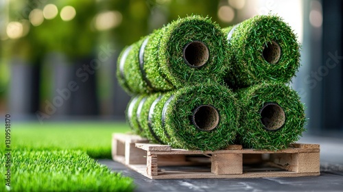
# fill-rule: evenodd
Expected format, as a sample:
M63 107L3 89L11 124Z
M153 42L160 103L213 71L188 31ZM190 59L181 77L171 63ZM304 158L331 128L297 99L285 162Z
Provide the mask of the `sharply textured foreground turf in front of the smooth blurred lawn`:
M0 156L5 173L5 155ZM0 191L133 191L130 178L99 165L85 152L12 151L11 186L1 179Z

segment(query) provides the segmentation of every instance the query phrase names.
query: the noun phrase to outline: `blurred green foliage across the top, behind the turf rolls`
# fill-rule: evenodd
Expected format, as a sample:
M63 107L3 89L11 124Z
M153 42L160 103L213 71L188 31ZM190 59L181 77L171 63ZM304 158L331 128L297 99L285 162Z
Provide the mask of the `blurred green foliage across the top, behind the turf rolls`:
M150 34L153 29L191 14L210 16L217 19L219 0L29 0L9 1L10 21L25 22L28 33L14 40L6 40L12 47L12 54L27 60L36 60L49 51L59 51L71 58L88 56L98 43L99 31L95 28L98 13L117 11L121 21L117 27L110 29L107 38L123 47ZM41 25L29 23L29 13L34 9L43 10L45 5L53 3L58 13L66 5L75 8L76 16L71 21L62 21L58 14L54 19L45 19ZM221 23L220 23L221 24ZM106 33L105 32L105 33Z

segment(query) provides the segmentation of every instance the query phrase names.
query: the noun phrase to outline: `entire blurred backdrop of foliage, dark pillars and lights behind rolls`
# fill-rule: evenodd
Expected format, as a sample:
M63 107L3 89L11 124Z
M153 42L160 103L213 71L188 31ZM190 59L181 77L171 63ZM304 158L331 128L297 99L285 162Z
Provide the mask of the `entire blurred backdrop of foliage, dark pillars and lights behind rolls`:
M190 14L221 27L279 14L302 44L292 86L307 134L343 135L340 0L0 0L0 114L16 121L123 121L115 75L123 47Z

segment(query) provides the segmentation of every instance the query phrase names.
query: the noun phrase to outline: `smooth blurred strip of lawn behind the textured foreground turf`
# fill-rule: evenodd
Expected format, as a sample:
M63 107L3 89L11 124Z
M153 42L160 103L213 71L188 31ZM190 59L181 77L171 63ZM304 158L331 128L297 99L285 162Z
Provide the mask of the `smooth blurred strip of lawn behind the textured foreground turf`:
M127 123L12 123L13 149L77 149L91 158L111 158L113 132L128 132ZM4 132L3 132L4 133ZM1 134L3 134L1 133ZM2 137L3 138L3 137ZM0 145L3 149L4 145Z

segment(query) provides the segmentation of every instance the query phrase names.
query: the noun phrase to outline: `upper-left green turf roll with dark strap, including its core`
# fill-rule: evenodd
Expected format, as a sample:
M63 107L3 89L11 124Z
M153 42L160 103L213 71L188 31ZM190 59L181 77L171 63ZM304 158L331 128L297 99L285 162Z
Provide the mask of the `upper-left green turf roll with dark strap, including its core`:
M165 92L185 84L222 82L228 63L228 44L219 25L189 16L124 49L117 76L131 94Z

